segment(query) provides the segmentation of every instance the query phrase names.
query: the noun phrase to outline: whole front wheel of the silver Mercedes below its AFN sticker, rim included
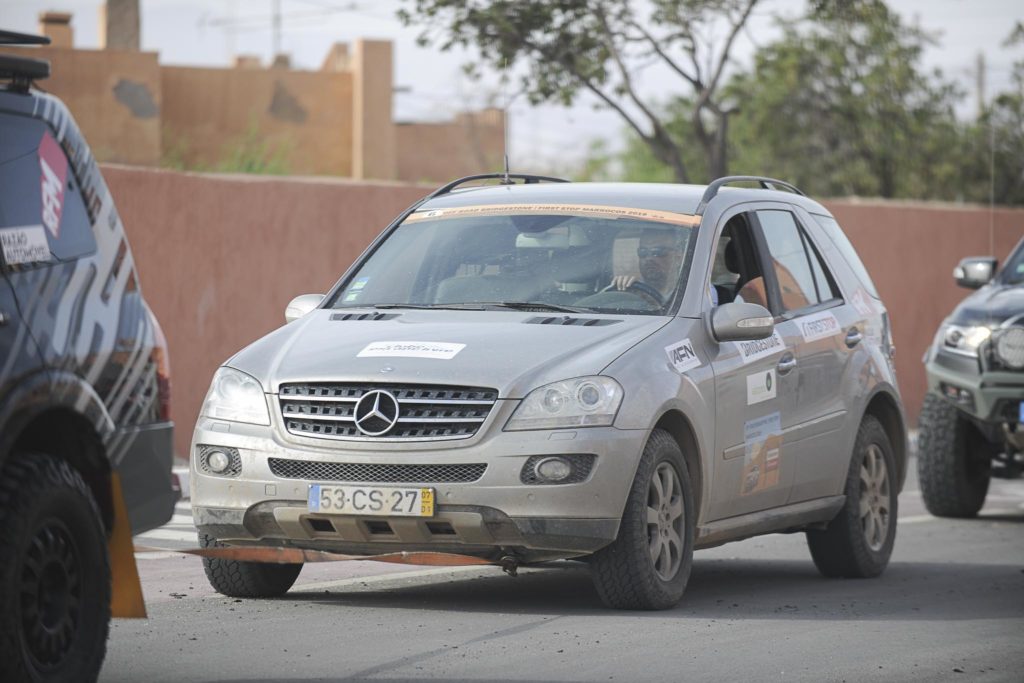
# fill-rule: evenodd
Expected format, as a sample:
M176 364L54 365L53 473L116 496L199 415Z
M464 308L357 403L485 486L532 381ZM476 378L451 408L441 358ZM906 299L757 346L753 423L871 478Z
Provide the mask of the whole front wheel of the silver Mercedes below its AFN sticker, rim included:
M591 575L616 609L666 609L683 597L693 563L693 494L679 444L655 429L644 446L618 537L595 553Z

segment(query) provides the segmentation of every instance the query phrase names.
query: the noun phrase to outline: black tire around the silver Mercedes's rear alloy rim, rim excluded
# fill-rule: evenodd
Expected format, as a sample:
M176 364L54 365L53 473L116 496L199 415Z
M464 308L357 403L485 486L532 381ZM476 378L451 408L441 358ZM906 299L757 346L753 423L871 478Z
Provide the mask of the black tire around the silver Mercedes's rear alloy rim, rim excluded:
M885 536L878 549L872 549L865 538L861 522L861 465L872 450L881 452L888 477L885 500L888 503L884 529ZM857 430L850 467L847 471L846 503L839 514L823 530L808 530L807 545L818 571L824 577L869 579L881 574L889 564L896 541L897 475L892 443L882 424L865 415Z

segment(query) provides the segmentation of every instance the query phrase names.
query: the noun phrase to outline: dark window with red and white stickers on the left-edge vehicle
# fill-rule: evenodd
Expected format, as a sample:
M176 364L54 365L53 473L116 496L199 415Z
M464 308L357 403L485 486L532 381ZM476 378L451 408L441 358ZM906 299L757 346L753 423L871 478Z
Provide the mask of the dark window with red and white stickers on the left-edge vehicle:
M96 250L78 181L49 126L0 114L0 239L4 262L26 268Z

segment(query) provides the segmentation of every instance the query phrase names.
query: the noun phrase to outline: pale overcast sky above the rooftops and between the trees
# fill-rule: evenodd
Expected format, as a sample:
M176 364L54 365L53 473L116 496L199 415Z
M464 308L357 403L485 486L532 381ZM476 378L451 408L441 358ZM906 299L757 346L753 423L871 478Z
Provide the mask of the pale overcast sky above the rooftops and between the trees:
M96 0L0 0L0 27L35 32L40 11L70 11L76 47L96 47L101 4ZM140 4L142 48L159 52L163 63L222 67L234 54L260 55L264 62L270 58L272 0L141 0ZM283 51L291 54L294 68L318 69L334 42L392 40L394 82L402 88L394 100L398 120L446 119L499 91L497 77L481 85L462 75L460 66L472 54L418 47L419 31L404 28L394 16L402 4L403 0L281 0ZM926 65L941 69L970 93L961 108L965 116L976 108L979 52L986 56L989 97L1009 86L1013 61L1024 59L1024 48L1001 47L1014 24L1024 20L1020 0L890 0L889 4L906 19L938 35L939 45L927 52ZM772 14L793 15L804 6L804 0L765 0L737 46L737 61L748 62L755 42L770 40ZM640 84L647 93L657 89L670 93L676 85L656 70L643 74ZM615 146L623 136L620 119L595 112L590 98L581 98L571 109L530 108L522 98L514 99L510 117L512 164L523 170L579 160L589 140L604 138Z

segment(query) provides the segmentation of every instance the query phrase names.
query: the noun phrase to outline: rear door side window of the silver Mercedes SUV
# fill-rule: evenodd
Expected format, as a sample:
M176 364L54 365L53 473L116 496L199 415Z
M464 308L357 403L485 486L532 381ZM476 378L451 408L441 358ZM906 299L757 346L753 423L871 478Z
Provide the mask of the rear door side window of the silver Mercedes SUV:
M788 211L758 211L782 310L798 310L836 298L831 279Z

